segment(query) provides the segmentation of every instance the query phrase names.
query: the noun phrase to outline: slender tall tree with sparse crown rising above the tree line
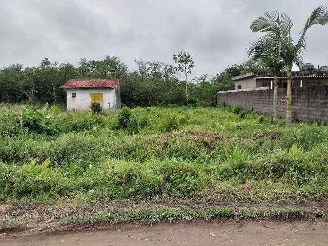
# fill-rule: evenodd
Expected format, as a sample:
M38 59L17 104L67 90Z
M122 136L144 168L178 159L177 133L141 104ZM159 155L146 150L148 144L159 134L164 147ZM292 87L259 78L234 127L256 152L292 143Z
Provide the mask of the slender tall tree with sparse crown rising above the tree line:
M189 53L180 50L177 54L173 55L173 60L177 64L177 69L181 73L185 72L186 75L186 100L188 103L188 81L187 81L187 73L191 74L191 69L195 67L194 61L192 60Z

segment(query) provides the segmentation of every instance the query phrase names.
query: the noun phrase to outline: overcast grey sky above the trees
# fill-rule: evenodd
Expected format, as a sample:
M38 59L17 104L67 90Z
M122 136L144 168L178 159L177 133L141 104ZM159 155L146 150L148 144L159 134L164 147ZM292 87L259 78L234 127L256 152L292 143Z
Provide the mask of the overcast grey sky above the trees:
M0 0L0 65L36 66L44 57L77 65L80 58L117 56L173 64L172 54L188 51L192 75L210 76L247 58L248 43L259 34L251 21L264 11L282 10L297 36L306 18L326 0ZM307 35L304 60L328 65L328 25Z

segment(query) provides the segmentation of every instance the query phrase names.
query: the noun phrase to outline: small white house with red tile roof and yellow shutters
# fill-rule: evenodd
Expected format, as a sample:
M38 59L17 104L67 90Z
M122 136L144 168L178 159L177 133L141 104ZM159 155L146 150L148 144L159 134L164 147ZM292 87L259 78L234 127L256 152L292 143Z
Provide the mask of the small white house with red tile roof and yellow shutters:
M66 90L67 110L90 110L94 101L103 109L121 107L118 79L70 79L59 89Z

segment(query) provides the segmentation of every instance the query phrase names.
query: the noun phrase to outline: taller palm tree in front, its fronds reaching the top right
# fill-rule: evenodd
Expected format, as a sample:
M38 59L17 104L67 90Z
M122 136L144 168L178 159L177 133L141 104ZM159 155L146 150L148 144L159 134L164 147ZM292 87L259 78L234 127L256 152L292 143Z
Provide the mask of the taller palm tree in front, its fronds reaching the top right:
M264 32L267 35L271 34L278 38L279 56L286 65L287 70L287 95L286 95L286 123L292 125L291 114L291 78L292 68L294 65L300 69L303 66L302 51L305 50L305 33L315 24L325 25L328 23L328 9L325 6L319 6L312 11L310 17L306 20L298 42L294 44L293 38L290 36L290 31L293 26L290 16L281 11L265 12L264 16L260 16L253 20L251 30L253 32Z

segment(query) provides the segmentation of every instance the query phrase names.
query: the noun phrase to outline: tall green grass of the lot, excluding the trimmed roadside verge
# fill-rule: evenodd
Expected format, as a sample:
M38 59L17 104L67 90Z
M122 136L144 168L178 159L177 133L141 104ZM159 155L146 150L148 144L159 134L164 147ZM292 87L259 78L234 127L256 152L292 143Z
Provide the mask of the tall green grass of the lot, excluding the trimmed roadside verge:
M2 201L239 196L248 186L245 199L320 200L328 190L326 126L273 126L238 108L151 107L61 111L44 131L22 124L19 110L0 106Z

